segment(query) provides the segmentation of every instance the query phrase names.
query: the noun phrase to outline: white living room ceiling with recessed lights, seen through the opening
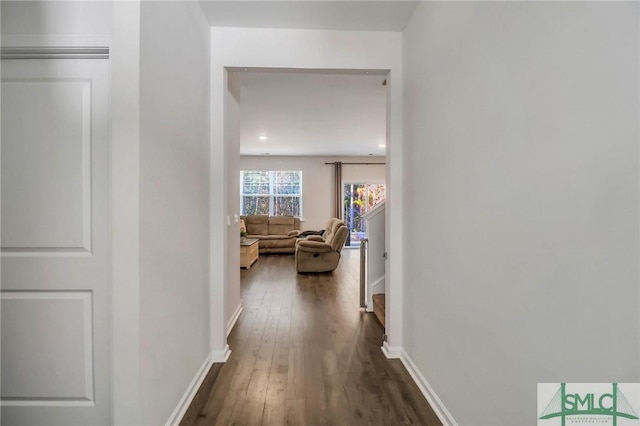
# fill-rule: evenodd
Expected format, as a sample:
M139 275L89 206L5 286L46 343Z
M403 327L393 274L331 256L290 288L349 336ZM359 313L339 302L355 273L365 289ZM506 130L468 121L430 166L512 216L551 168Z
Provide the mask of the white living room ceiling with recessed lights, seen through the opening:
M239 73L242 155L385 155L384 75Z

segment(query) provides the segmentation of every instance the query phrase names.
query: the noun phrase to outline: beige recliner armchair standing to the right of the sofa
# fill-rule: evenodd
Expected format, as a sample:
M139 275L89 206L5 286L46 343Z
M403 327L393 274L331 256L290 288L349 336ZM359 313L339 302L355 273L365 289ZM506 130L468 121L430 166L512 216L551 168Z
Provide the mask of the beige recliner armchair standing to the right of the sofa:
M298 272L331 272L338 267L340 252L349 237L347 225L331 218L324 234L310 235L296 244L296 269Z

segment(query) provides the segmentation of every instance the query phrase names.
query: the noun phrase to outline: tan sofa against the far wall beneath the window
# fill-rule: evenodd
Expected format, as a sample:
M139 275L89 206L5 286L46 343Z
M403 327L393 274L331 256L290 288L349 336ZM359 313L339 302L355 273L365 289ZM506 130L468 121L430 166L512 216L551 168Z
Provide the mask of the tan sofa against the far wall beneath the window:
M300 233L300 219L292 216L241 216L247 228L247 238L257 238L260 254L296 251L296 237Z

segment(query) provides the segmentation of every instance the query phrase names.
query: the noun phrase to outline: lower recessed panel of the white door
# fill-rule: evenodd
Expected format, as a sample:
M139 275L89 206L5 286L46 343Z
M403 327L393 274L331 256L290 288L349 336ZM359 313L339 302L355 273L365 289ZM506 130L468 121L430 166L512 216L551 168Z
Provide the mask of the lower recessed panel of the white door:
M2 293L1 320L11 324L2 333L2 347L9 348L2 360L5 401L93 403L91 311L88 291Z

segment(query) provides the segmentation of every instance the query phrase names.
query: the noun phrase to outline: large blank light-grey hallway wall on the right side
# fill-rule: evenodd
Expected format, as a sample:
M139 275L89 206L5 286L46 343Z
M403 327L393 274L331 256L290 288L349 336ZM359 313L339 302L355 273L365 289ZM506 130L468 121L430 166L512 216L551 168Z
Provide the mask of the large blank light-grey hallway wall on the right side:
M638 19L434 2L404 32L404 348L460 424L640 380Z

